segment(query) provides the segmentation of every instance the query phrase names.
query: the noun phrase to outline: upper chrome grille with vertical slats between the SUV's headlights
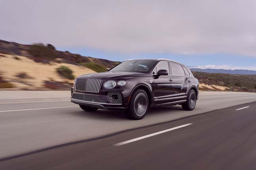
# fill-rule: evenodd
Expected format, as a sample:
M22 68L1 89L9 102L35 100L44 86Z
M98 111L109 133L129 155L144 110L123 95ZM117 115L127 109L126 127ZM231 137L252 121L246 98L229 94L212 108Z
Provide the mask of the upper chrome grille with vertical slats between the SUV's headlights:
M90 78L77 78L75 81L75 90L99 93L102 80Z

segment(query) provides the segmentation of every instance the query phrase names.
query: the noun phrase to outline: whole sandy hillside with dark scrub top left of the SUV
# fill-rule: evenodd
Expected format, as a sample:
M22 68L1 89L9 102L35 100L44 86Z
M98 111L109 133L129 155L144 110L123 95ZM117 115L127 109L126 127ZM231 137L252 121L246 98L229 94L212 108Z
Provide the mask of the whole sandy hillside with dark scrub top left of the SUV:
M117 63L58 51L50 44L0 40L0 89L67 90L75 77L104 72Z

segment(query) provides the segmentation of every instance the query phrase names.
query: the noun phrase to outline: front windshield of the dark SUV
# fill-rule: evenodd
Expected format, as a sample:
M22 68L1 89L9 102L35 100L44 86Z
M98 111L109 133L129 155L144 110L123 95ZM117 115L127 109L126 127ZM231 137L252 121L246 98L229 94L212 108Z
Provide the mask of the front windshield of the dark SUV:
M156 61L149 61L149 60L124 61L109 71L146 73L150 71L155 64L156 64Z

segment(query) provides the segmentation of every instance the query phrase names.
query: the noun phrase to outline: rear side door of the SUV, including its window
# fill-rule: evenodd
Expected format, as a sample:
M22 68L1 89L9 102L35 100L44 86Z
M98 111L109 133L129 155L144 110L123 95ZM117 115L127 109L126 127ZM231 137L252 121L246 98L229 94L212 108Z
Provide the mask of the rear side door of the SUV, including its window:
M185 76L185 71L180 64L169 62L171 68L171 76L173 81L171 82L171 87L175 91L174 96L186 96L187 95L187 76Z

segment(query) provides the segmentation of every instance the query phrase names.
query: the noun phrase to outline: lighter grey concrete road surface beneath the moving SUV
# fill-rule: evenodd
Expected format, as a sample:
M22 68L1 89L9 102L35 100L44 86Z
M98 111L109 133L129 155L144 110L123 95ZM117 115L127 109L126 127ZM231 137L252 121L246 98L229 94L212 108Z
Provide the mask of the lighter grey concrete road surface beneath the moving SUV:
M256 101L255 93L201 92L193 111L184 111L181 106L152 108L144 119L131 121L123 112L89 113L69 101L60 101L69 100L68 91L41 92L40 98L33 93L22 92L19 98L0 95L0 158ZM58 98L59 93L64 94Z

